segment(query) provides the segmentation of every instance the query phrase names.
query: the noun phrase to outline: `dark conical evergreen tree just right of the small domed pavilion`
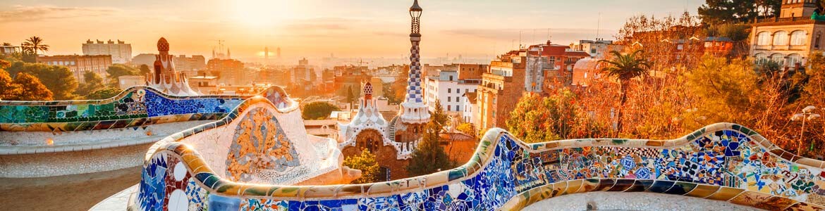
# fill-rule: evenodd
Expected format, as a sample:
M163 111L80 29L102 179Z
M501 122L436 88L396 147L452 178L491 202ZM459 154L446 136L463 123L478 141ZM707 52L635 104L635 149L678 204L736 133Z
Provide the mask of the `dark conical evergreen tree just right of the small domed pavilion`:
M407 171L411 176L422 176L436 171L444 171L455 166L455 162L450 161L450 157L444 152L441 146L440 136L443 125L449 120L449 116L444 114L441 102L436 100L435 112L431 115L430 122L424 126L424 135L421 143L413 151Z

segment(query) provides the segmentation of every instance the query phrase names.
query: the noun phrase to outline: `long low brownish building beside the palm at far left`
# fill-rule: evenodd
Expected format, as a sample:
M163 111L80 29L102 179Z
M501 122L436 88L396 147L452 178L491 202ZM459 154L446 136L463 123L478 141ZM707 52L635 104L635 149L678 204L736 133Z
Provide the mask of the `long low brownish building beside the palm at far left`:
M72 71L78 82L84 82L83 73L91 71L106 77L106 69L111 66L111 55L55 55L37 57L37 63L66 66Z

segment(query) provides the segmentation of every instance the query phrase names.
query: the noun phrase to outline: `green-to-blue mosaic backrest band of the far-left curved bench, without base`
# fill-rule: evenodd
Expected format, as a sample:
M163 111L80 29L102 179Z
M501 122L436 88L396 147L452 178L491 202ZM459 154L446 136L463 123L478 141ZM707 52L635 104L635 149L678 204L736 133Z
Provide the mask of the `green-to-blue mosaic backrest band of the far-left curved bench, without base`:
M0 101L0 131L82 131L218 120L250 96L168 96L130 87L94 101Z

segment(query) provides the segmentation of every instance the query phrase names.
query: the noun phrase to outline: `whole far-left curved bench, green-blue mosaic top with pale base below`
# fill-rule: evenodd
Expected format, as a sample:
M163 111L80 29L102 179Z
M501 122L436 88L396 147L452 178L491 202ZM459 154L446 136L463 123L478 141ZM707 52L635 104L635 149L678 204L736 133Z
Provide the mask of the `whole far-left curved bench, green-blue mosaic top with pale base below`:
M258 95L284 102L276 89ZM0 101L0 177L140 166L149 144L224 118L249 97L168 96L139 86L99 101Z

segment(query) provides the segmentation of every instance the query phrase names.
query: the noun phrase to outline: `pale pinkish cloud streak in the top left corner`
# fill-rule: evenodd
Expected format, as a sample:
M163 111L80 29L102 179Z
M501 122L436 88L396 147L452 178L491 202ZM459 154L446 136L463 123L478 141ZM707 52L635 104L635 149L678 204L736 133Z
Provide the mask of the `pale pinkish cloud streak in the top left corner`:
M110 16L119 12L105 7L14 6L0 11L0 22L45 21L73 17Z

